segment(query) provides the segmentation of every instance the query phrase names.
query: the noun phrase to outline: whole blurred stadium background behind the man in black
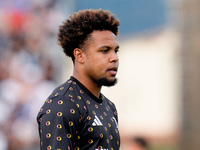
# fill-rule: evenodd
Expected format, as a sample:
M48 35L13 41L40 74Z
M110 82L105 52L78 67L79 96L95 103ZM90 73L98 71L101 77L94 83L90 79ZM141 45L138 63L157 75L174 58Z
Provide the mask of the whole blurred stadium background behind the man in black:
M118 109L121 150L200 149L199 0L0 0L0 150L39 150L36 115L72 74L58 26L86 8L120 19L119 82L103 88Z

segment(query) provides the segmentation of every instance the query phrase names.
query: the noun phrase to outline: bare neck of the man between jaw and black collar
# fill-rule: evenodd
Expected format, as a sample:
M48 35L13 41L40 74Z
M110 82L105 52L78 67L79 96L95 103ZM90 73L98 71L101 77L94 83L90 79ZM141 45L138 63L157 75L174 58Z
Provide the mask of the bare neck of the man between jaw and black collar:
M80 74L78 71L74 70L73 77L75 77L79 82L81 82L94 96L99 98L101 87L98 84L83 74Z

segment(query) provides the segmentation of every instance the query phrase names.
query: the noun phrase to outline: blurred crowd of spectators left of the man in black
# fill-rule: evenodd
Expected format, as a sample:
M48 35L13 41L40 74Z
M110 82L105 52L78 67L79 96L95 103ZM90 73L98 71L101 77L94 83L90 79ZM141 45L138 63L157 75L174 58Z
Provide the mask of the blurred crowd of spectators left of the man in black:
M0 150L39 149L36 115L56 86L56 0L0 0Z

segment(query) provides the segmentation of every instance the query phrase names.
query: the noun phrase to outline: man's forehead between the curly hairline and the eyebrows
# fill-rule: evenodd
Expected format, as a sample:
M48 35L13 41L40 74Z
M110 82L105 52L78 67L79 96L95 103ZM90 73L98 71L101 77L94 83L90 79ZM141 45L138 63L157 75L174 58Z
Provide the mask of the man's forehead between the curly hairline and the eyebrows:
M89 46L101 47L101 46L112 46L117 47L117 37L111 31L93 31L89 41Z

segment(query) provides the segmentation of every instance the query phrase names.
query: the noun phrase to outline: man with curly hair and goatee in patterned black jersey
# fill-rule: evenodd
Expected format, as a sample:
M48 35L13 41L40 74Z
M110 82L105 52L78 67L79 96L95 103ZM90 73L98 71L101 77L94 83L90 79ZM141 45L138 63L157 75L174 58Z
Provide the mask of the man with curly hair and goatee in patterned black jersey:
M107 10L81 10L63 22L58 43L73 74L37 116L41 150L119 150L117 110L101 93L116 84L120 21Z

